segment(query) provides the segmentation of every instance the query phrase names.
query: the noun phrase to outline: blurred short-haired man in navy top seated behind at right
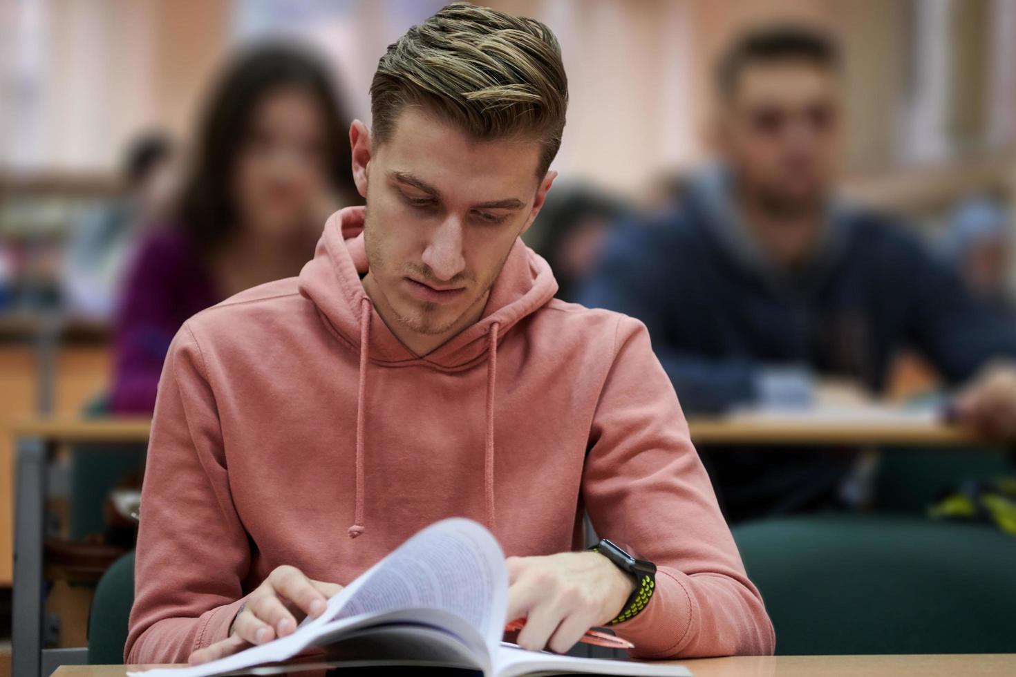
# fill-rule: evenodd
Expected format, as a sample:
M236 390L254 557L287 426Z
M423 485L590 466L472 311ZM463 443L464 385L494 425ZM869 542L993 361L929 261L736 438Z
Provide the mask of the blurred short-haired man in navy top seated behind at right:
M834 197L845 138L830 37L803 24L745 33L715 86L720 161L669 214L612 238L579 296L646 323L687 412L862 400L907 346L952 385L1016 356L1016 326L925 244ZM981 378L956 414L1016 438L1013 368ZM838 504L854 464L839 451L701 451L734 520Z

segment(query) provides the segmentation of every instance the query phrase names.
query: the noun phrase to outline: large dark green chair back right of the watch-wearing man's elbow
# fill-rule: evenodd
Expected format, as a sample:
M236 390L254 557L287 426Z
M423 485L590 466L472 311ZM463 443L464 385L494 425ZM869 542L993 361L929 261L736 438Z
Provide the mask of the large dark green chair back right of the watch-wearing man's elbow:
M777 654L1016 652L1016 539L992 527L819 515L734 536Z

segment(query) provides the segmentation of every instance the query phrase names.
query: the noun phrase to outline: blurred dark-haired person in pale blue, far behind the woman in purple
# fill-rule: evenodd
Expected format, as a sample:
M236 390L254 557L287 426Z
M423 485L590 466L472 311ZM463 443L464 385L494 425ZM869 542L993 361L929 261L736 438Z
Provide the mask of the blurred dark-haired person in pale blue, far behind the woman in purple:
M145 227L166 217L175 197L177 155L167 134L138 136L124 154L123 194L88 210L71 227L62 266L69 315L113 315L133 247Z

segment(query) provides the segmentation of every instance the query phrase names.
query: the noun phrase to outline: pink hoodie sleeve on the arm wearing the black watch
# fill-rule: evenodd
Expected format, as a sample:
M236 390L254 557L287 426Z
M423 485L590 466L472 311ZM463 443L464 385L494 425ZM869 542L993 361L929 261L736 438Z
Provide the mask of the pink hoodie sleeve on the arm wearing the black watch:
M638 658L772 654L748 580L677 396L642 323L622 316L593 415L582 494L593 528L657 566L635 618L613 627Z

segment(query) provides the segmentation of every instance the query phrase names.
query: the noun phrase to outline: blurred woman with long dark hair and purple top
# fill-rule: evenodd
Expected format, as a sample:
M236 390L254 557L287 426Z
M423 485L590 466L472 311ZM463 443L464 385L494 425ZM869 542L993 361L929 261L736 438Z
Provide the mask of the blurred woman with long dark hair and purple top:
M150 413L163 360L187 318L290 277L327 216L359 201L351 119L327 67L262 45L226 69L206 101L175 216L142 244L116 329L111 409Z

